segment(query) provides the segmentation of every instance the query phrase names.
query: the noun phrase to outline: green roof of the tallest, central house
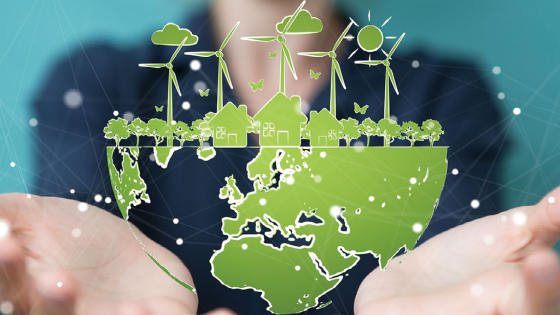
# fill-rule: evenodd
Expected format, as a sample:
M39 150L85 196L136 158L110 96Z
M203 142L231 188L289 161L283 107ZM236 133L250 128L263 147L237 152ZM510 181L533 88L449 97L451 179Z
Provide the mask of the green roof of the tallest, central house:
M301 98L297 95L288 98L284 93L277 93L255 115L255 121L307 122L307 116L301 111Z

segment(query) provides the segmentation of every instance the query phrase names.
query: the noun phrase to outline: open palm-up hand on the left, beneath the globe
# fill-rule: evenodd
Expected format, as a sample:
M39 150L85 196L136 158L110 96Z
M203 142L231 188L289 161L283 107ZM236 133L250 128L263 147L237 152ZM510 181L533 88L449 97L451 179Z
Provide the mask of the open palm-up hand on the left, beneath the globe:
M158 269L124 220L91 205L80 212L78 204L0 195L0 302L10 301L13 314L196 314L196 295ZM175 255L132 228L160 263L193 285Z

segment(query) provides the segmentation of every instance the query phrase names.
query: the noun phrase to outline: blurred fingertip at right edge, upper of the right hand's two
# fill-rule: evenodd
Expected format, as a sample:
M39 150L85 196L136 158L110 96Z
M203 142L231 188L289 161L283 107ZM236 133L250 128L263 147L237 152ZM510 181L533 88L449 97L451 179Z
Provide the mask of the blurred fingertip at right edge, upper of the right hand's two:
M527 226L538 244L552 247L560 240L560 187L530 208L527 213Z

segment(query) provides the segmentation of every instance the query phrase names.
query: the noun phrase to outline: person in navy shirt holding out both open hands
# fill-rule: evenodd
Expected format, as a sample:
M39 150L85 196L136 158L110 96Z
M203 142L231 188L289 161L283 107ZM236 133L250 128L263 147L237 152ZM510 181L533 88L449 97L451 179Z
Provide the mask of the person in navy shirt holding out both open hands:
M299 0L216 0L209 12L191 18L185 24L199 36L195 46L197 51L215 51L231 27L241 21L224 50L234 84L233 91L225 90L225 101L247 104L249 114L254 115L276 92L278 62L268 53L279 47L239 38L275 34L275 23L292 14L299 4ZM330 73L330 63L323 58L297 56L294 52L330 50L349 19L337 11L331 1L309 1L306 8L323 21L323 31L314 35L287 36L287 44L293 52L298 73L311 68L323 75L318 80L300 75L297 81L287 75L286 91L290 95L300 95L309 104L308 112L328 107L330 87L325 74ZM354 36L357 29L351 30ZM370 104L366 116L378 121L383 117L384 72L377 67L355 65L354 60L369 57L358 52L349 59L356 48L355 41L344 41L337 50L347 86L346 90L340 87L337 90L337 118L356 117L353 103L357 102ZM38 195L89 203L96 202L94 196L97 194L112 195L105 158L105 148L110 144L103 138L102 130L114 113L142 118L157 115L154 107L167 102L167 72L141 69L138 64L165 62L173 50L174 47L154 45L120 50L99 44L68 56L52 69L35 101L40 122L35 186ZM173 96L175 108L182 108L176 111L175 119L185 122L201 118L216 106L213 91L213 78L218 70L216 60L197 59L200 62L198 69L191 63L194 59L181 54L174 61L174 70L184 92L182 97ZM375 258L361 257L341 284L327 293L327 298L333 301L332 306L306 313L367 314L378 305L383 306L381 309L388 314L406 313L406 306L400 302L406 297L406 301L422 303L417 312L434 313L434 309L440 306L448 313L470 313L478 304L508 311L506 307L510 306L503 305L502 301L511 298L519 304L515 305L520 306L516 308L520 310L519 314L548 314L543 310L555 306L551 301L558 291L557 283L551 281L541 288L540 282L529 280L537 267L546 267L543 270L551 275L557 271L556 258L550 252L557 231L554 226L548 226L550 222L541 220L541 212L551 211L552 216L556 212L542 203L524 208L527 222L531 224L518 228L511 225L511 219L503 225L496 222L500 218L496 214L502 210L500 190L495 184L498 182L496 170L500 162L499 152L507 147L507 140L501 133L503 120L498 114L495 96L484 79L486 74L468 62L436 58L422 51L407 54L398 51L393 56L391 68L401 92L398 97L392 95L392 115L399 121L438 120L446 132L440 142L450 147L449 166L466 175L448 176L439 206L420 243L441 235L412 251L399 269L390 267L395 271L370 274L377 266ZM246 82L260 79L264 79L265 88L253 92ZM206 86L210 87L210 96L197 96L198 89ZM182 102L188 103L183 106ZM141 145L152 144L149 141L141 139ZM250 146L257 145L255 139L249 141ZM123 141L122 144L127 143ZM381 145L381 139L372 145ZM8 268L0 281L3 292L8 292L0 300L9 299L9 292L12 292L17 297L18 310L25 312L38 305L39 314L64 314L60 309L52 311L53 307L66 308L65 312L72 314L73 303L76 303L77 314L110 314L116 313L120 307L124 307L123 312L131 314L194 314L217 308L224 308L217 312L229 312L225 310L227 308L238 314L268 313L267 304L259 293L223 286L211 275L209 263L210 256L225 239L220 230L221 219L233 215L227 203L216 198L224 184L223 178L233 173L242 191L252 190L245 167L257 152L258 148L218 150L213 160L203 162L192 151L180 150L166 170L152 162L149 153L141 152L142 174L146 176L152 202L132 209L131 222L153 240L149 246L156 248L152 250L156 256L164 257L164 265L169 265L179 278L194 283L196 296L177 287L165 274L158 272L153 262L141 256L141 248L133 245L135 240L128 235L122 219L107 215L97 207L90 207L87 217L76 217L76 201L8 195L0 197L0 215L10 222L13 236L3 241L5 245L1 246L0 259L6 268L12 269ZM480 206L471 209L469 205L473 199L480 200ZM111 212L117 209L111 200L97 205ZM512 214L504 215L512 218L519 210L512 211ZM39 222L35 219L37 213L42 217ZM175 218L179 219L179 224L172 223ZM448 231L472 220L476 221ZM89 240L79 243L83 246L81 250L75 249L74 240L68 237L68 231L80 222L87 222L80 238ZM540 231L536 228L539 224L548 229ZM512 239L508 234L513 233L512 228L532 237ZM482 245L481 237L486 231L492 231L493 246L499 246L503 252L486 252L494 248ZM502 231L501 234L497 234L498 231ZM178 236L183 239L180 246L176 243ZM546 238L547 242L541 242L541 238ZM519 251L521 248L523 250ZM509 255L499 256L500 252ZM439 255L438 260L432 259L431 255L435 254ZM39 264L24 268L24 255L31 255ZM409 260L412 262L408 263ZM419 267L426 270L423 275L426 278L419 279L431 281L430 285L400 278L399 275L415 274ZM58 275L65 279L61 281L65 284L48 290L45 298L34 302L40 295L33 290L23 292L21 288L27 288L38 273L50 269L59 269L62 273ZM511 279L500 277L508 272ZM490 287L486 287L483 280L488 281ZM387 287L378 287L379 281L382 281L379 285L383 283ZM460 290L474 281L480 281L482 288L498 285L511 290L490 292L488 289L492 294L482 294L479 298L484 303L469 303L471 296L465 296L466 293ZM533 288L535 293L542 294L533 295L528 291L527 296L524 295L524 290ZM427 292L420 295L423 290ZM452 292L461 294L453 295ZM404 293L406 295L402 295ZM30 301L34 303L29 304ZM56 303L51 303L53 301ZM442 301L446 302L445 308L440 305ZM531 307L534 312L521 313ZM439 308L436 310L440 311Z

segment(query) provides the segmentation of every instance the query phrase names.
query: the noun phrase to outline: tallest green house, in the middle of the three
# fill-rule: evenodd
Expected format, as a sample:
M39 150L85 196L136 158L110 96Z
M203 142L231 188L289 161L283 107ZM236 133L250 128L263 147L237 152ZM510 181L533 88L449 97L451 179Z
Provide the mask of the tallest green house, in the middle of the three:
M302 124L307 116L301 111L299 96L288 98L277 93L254 118L259 128L261 147L299 147Z

